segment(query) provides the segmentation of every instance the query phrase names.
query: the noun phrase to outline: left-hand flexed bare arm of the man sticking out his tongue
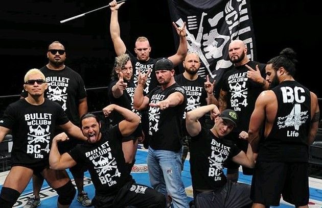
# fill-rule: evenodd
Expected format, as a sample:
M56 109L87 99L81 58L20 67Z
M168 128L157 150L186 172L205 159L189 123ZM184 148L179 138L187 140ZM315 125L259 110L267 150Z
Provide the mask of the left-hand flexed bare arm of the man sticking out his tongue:
M56 135L52 141L52 147L49 152L49 166L51 169L64 170L77 164L67 152L60 155L57 142L63 142L65 140L68 140L67 135L65 133L60 133Z

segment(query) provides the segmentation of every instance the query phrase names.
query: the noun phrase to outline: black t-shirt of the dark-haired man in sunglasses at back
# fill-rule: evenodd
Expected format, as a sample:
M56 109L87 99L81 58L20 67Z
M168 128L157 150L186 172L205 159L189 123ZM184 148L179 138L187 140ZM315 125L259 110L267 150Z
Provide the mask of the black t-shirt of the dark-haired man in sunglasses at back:
M40 71L45 75L48 83L45 97L59 103L68 119L79 126L78 100L86 97L82 77L67 66L62 70L51 70L44 66ZM21 96L27 97L28 94L26 91L22 91Z

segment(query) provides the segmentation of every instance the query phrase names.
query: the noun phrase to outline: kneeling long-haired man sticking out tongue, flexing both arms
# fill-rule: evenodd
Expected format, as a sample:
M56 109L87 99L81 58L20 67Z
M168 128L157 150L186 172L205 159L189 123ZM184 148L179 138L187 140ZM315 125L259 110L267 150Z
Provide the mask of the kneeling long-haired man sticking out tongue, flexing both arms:
M81 126L87 143L77 145L68 153L61 155L57 148L57 142L67 140L67 135L57 135L49 156L51 168L60 170L78 163L87 166L95 187L92 203L96 208L164 208L165 196L145 185L136 184L125 165L122 137L135 131L140 123L140 116L114 104L103 109L105 116L113 111L120 113L124 120L107 132L101 132L101 122L97 116L91 113L83 115Z

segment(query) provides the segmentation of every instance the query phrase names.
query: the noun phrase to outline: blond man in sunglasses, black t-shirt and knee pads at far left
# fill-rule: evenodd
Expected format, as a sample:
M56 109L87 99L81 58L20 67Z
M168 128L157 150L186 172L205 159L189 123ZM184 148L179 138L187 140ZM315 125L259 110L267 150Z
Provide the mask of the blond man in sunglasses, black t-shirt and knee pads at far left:
M44 98L48 88L45 76L38 69L25 75L24 90L28 96L10 104L0 120L0 141L12 131L12 167L0 195L0 207L12 207L27 187L33 174L44 177L58 193L57 206L68 207L76 190L65 170L49 168L49 151L55 127L86 140L80 128L68 120L58 103Z

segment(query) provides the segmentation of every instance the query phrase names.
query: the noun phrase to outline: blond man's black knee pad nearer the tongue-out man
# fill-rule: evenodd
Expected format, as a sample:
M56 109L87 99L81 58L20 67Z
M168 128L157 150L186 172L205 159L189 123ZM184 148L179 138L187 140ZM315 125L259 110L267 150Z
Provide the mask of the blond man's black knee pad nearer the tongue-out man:
M71 180L64 186L55 189L55 191L58 194L58 203L61 205L70 205L76 195L76 189Z

